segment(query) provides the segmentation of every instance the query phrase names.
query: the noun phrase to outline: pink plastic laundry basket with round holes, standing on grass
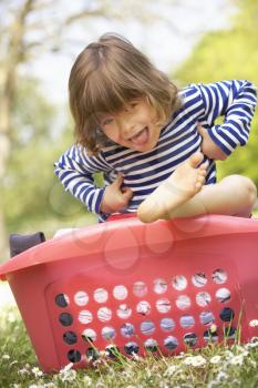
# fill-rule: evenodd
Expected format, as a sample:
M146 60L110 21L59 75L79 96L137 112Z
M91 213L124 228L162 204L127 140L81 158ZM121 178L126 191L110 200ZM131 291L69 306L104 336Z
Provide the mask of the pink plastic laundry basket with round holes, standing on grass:
M85 367L97 349L174 355L258 336L258 221L142 224L124 217L50 239L0 267L40 365ZM111 346L112 345L112 346Z

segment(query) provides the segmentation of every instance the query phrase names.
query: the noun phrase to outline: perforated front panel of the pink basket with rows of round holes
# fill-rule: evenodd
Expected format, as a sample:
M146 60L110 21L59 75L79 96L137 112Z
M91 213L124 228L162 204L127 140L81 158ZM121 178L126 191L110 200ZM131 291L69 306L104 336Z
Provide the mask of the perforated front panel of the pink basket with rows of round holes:
M240 299L228 274L218 267L104 287L75 277L56 282L47 294L58 351L81 363L103 349L113 358L234 339Z

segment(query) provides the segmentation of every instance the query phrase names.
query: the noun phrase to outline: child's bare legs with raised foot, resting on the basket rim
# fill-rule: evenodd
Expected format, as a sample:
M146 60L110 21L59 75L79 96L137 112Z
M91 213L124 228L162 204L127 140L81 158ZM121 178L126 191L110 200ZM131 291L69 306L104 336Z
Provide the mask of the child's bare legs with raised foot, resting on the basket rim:
M255 184L245 176L230 175L221 182L203 186L205 167L202 154L194 154L176 169L138 207L145 223L156 219L225 214L248 217L257 201Z

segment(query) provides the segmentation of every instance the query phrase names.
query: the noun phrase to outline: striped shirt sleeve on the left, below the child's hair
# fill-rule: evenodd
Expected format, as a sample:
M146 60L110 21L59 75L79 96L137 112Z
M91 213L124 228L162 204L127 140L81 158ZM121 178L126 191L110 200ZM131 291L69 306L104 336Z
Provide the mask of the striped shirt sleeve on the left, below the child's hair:
M73 145L54 163L54 173L65 191L80 200L92 213L100 214L105 187L96 187L93 174L111 171L102 155L90 156L80 145Z

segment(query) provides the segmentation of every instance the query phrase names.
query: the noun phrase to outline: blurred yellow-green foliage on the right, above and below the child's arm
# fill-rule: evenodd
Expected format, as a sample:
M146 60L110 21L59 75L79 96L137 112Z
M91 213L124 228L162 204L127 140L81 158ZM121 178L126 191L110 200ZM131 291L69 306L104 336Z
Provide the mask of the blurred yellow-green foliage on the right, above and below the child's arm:
M188 60L173 74L179 85L247 79L258 85L258 1L240 0L239 12L224 31L206 34ZM244 174L258 186L258 114L252 121L248 144L218 163L218 177Z

